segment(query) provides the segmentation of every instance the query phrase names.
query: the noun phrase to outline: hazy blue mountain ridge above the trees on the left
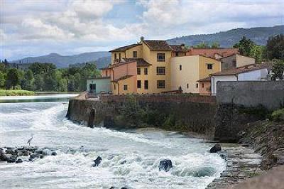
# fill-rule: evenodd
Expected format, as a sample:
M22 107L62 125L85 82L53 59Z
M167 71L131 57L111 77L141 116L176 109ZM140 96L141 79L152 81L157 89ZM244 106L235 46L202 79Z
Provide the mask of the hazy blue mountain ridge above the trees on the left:
M96 62L97 68L102 68L110 63L110 53L106 51L82 53L79 55L60 55L58 53L50 53L49 55L23 58L21 60L12 61L11 63L53 63L57 68L67 68L72 64L93 61Z

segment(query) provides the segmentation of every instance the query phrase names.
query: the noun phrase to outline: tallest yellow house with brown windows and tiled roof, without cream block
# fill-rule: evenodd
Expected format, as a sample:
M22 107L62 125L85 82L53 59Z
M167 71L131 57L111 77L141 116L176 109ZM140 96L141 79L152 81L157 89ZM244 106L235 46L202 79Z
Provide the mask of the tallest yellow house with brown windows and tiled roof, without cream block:
M136 44L116 48L111 52L111 66L121 65L121 69L112 72L115 75L127 76L116 78L112 82L112 90L115 95L126 93L158 93L170 91L170 58L173 56L185 55L185 45L168 45L166 41L144 40ZM131 75L131 61L136 60L136 75ZM124 67L124 68L122 68ZM104 68L104 70L109 68ZM111 72L111 71L109 71ZM104 72L103 72L104 73ZM130 80L136 80L136 88L129 90ZM124 84L125 83L125 84ZM132 83L132 82L131 82ZM118 85L124 86L127 90L121 89ZM126 86L127 85L127 86Z

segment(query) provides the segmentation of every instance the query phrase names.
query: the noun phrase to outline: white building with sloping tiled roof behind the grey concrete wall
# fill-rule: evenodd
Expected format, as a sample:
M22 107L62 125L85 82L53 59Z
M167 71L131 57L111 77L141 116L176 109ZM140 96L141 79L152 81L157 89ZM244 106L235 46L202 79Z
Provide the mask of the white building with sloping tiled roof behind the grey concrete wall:
M217 94L217 82L222 81L261 81L268 80L272 65L269 63L246 65L224 70L211 75L211 93Z

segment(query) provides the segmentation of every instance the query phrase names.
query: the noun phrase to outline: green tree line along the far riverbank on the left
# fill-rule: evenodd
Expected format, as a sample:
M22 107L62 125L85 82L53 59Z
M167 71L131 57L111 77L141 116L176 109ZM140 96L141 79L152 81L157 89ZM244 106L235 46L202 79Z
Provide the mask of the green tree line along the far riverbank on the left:
M52 63L33 63L27 70L10 68L7 60L0 63L0 88L6 90L76 92L86 90L89 77L97 77L94 63L84 67L56 68Z

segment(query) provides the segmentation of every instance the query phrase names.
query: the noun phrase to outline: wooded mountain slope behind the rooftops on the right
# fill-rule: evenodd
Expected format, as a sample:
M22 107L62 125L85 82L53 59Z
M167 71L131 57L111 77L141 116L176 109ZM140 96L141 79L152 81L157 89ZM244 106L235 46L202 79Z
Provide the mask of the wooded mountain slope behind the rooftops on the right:
M199 43L213 43L219 42L221 47L231 47L239 40L242 36L250 38L258 45L266 45L268 37L284 33L284 25L273 26L273 27L258 27L258 28L236 28L229 31L222 31L213 34L202 34L192 36L182 36L179 38L169 39L167 42L170 44L181 44L185 45L197 45Z

